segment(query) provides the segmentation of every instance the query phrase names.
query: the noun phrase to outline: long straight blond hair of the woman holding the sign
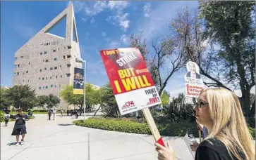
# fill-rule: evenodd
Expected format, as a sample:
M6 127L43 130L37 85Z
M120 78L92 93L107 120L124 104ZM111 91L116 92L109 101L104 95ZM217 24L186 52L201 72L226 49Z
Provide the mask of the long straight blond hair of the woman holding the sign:
M253 138L236 94L221 87L205 88L200 94L203 92L206 93L210 119L214 124L205 140L217 138L224 143L231 157L236 156L239 160L255 159Z

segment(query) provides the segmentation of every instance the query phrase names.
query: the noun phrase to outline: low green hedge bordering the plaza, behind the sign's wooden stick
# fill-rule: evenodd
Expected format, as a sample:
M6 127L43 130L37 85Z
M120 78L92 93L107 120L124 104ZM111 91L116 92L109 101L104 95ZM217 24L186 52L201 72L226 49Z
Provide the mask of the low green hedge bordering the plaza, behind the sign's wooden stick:
M88 128L97 128L107 131L119 131L126 133L138 133L138 134L151 134L150 128L146 123L138 123L134 119L103 119L103 118L91 118L85 121L77 120L73 121L73 124L77 126L85 126ZM157 124L159 133L161 135L168 136L184 136L187 132L193 135L198 135L197 127L195 123L191 122L172 122L170 124Z

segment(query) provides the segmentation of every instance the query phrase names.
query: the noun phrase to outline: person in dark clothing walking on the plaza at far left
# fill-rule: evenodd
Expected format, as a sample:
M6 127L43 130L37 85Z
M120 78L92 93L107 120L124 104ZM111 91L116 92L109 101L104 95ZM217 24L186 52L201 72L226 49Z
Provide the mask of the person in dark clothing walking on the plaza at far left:
M19 139L21 135L21 145L24 143L24 138L25 134L27 134L27 128L26 128L26 122L25 120L28 120L28 115L23 114L22 109L18 109L18 114L13 116L13 119L16 119L14 128L13 128L13 133L11 135L16 135L16 145L19 145Z

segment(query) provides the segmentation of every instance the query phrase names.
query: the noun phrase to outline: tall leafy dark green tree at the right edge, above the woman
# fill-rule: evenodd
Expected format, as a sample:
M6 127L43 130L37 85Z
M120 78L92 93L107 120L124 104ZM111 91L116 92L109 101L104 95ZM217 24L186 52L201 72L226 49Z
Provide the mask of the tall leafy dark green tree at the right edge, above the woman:
M221 46L218 55L227 80L239 84L240 101L249 116L250 89L255 86L255 2L202 1L200 10L207 37Z

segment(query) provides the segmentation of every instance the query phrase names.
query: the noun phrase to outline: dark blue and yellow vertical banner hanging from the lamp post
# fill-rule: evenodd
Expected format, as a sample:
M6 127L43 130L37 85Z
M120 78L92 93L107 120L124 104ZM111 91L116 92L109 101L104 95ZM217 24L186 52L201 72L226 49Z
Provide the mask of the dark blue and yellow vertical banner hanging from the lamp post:
M74 69L73 94L83 95L84 91L84 70Z

